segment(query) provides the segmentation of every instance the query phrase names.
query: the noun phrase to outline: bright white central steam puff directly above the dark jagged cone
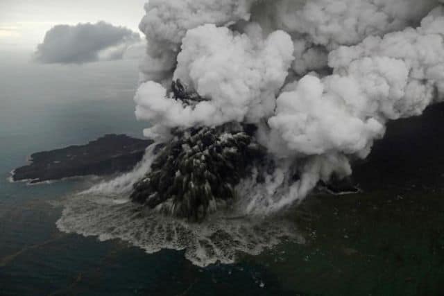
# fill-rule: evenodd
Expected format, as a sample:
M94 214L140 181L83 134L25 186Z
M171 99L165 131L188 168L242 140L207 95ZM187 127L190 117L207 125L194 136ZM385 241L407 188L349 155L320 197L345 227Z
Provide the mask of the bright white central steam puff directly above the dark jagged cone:
M240 35L212 24L189 30L174 78L212 100L183 107L165 98L167 89L147 82L135 98L137 116L168 127L190 127L230 121L257 123L273 115L275 96L293 60L293 43L283 31L275 31L265 40L259 26L249 33Z

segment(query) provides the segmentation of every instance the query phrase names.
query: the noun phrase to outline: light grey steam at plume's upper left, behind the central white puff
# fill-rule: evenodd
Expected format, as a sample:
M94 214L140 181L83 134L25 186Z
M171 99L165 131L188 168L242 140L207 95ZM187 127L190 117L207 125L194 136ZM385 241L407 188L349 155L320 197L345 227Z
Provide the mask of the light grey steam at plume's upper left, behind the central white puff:
M148 42L148 55L142 64L144 80L171 78L182 38L189 29L203 24L228 26L250 17L253 0L151 0L139 28Z

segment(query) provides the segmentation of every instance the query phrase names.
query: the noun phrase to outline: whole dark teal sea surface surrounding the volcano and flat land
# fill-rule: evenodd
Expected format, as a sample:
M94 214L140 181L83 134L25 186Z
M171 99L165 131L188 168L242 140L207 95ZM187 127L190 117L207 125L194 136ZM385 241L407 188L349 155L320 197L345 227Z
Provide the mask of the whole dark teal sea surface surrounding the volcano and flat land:
M368 162L357 164L362 193L314 193L282 214L290 226L269 225L293 239L237 252L234 263L196 265L186 249L147 252L129 239L100 237L86 214L83 230L94 235L61 232L67 202L99 180L28 186L8 182L9 173L37 151L107 133L142 137L137 79L137 61L38 65L3 53L0 295L444 295L442 106L389 127ZM126 217L106 218L118 226ZM246 234L248 225L255 223Z

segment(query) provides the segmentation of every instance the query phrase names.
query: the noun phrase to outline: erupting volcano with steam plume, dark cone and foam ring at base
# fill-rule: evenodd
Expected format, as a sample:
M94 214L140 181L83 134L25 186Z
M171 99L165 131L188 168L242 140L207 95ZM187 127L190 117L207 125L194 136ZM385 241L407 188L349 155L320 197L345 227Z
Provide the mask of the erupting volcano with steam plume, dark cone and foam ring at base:
M442 3L149 1L135 114L154 143L132 172L70 198L58 229L185 250L200 266L303 243L291 220L314 215L305 204L359 192L353 164L360 204L368 184L393 177L371 165L384 163L390 121L443 101Z

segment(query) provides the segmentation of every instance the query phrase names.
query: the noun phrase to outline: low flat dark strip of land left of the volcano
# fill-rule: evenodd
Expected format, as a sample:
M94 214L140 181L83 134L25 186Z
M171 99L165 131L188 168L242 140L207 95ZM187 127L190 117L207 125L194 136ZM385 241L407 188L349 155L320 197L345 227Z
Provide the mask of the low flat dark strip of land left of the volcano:
M106 134L83 146L35 153L31 155L31 164L14 171L12 180L37 183L130 171L151 143L151 140L134 139L125 134Z

